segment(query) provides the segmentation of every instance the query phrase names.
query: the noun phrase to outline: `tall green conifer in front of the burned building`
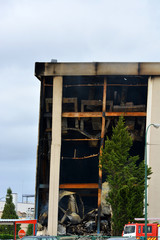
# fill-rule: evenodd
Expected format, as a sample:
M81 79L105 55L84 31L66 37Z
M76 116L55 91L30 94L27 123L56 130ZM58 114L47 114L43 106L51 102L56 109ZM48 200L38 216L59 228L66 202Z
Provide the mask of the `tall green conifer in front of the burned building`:
M133 141L121 116L111 139L107 137L100 158L110 191L106 201L112 209L112 234L121 235L127 222L143 217L145 163L139 156L130 156ZM148 168L148 176L151 168ZM149 177L148 177L149 178Z

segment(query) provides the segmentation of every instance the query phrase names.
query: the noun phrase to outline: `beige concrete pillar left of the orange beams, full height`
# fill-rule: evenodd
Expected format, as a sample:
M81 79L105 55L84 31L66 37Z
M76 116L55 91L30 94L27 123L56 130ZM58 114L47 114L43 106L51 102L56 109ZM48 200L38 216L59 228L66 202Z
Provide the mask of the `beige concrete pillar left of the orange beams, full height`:
M61 154L62 77L53 79L52 143L50 157L48 234L57 235Z

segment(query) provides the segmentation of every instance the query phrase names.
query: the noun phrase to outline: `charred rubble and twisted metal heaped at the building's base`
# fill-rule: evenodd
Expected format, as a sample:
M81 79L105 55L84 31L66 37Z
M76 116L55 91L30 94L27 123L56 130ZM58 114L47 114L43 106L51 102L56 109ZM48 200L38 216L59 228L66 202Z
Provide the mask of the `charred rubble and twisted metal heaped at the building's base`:
M106 204L106 195L109 187L102 185L100 230L103 235L111 235L111 210ZM81 197L75 192L60 191L58 235L92 235L97 232L98 209L84 214L84 204ZM48 209L39 218L39 226L46 228L48 222Z

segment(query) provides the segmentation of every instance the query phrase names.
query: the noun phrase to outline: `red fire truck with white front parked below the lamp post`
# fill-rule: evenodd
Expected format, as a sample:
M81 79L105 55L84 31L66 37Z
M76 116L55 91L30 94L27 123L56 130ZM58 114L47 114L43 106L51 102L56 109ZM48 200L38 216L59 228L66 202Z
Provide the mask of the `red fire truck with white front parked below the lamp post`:
M124 231L122 233L124 237L145 237L145 224L144 223L128 223L124 226ZM150 240L155 240L160 237L160 225L157 223L147 224L147 237Z

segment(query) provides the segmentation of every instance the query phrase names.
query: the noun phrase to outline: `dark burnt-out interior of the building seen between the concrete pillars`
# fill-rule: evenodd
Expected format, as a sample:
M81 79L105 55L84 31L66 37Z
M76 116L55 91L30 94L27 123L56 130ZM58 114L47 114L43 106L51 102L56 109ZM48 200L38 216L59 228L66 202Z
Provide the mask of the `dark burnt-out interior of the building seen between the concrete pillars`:
M74 191L82 197L85 213L97 208L97 188L89 184L99 181L99 154L102 144L103 86L106 78L106 113L104 140L112 134L118 113L134 113L125 116L126 125L133 138L131 155L144 158L145 115L148 78L143 76L67 76L63 77L62 145L60 165L60 189ZM37 218L47 209L52 129L53 78L41 81L40 129L36 200ZM74 113L82 113L82 117ZM84 116L83 113L94 113ZM116 114L115 114L116 113ZM105 113L103 113L105 114ZM102 182L105 181L105 175ZM73 184L79 184L74 188ZM88 184L88 188L80 187Z

